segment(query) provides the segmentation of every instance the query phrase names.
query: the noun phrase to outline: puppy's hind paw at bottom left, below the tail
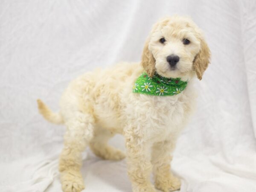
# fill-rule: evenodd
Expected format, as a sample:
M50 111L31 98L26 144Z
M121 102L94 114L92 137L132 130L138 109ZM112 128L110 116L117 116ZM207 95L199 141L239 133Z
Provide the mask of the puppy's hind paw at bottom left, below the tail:
M64 192L81 192L84 181L79 172L61 173L61 186Z

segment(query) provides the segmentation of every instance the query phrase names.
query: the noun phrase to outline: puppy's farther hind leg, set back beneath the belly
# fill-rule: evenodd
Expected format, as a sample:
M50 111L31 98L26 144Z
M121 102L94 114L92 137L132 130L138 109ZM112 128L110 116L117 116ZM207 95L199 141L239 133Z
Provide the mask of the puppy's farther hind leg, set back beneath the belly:
M94 154L106 160L125 158L122 151L108 145L108 140L115 135L112 131L103 128L96 128L94 131L94 137L90 142L90 148Z

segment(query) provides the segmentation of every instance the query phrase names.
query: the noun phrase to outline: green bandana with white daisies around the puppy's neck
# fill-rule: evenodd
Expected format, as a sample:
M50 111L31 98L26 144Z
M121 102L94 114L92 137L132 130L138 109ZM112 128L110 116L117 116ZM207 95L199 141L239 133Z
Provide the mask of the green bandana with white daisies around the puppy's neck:
M143 73L133 86L134 93L148 94L155 96L177 95L186 88L187 82L180 78L166 78L155 74L152 78Z

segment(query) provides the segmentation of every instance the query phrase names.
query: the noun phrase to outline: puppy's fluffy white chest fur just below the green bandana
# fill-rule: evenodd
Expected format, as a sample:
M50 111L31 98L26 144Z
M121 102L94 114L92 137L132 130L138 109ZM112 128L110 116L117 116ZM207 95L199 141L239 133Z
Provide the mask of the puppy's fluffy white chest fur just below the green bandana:
M133 126L138 134L154 142L176 137L190 112L191 100L186 93L176 96L137 96L132 111Z

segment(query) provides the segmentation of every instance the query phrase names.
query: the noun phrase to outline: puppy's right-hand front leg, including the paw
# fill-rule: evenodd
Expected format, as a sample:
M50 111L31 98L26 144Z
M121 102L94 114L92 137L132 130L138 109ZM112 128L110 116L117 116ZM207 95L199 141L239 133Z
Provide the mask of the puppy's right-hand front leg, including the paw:
M152 164L155 178L155 186L163 192L171 192L180 189L180 180L171 172L171 152L175 148L176 141L169 140L155 143L152 147Z

